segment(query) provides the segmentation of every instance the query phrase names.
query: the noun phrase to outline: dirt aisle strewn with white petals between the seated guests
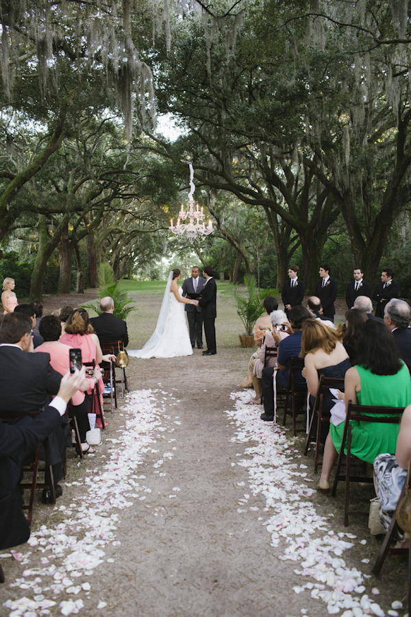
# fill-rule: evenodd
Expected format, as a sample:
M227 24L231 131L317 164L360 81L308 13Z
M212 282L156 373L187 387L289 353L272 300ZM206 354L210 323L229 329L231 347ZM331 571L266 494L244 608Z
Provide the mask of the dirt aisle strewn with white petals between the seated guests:
M139 301L130 348L161 298ZM402 599L403 564L363 577L378 547L365 524L344 528L340 504L311 490L310 457L274 439L259 409L236 408L250 350L237 346L233 307L222 313L216 356L130 361L135 394L97 454L71 452L62 498L36 507L32 544L0 554L1 617L360 617L382 614L374 585L386 614Z

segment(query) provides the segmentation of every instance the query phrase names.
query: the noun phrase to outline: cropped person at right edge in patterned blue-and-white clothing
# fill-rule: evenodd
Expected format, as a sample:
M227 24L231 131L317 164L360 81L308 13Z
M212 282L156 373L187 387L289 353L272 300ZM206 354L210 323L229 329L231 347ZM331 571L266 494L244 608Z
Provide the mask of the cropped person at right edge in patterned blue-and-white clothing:
M407 479L410 460L411 405L408 405L401 418L395 455L381 454L374 461L374 484L379 501L379 518L386 531L390 527L403 484ZM403 540L403 535L398 531L397 540Z

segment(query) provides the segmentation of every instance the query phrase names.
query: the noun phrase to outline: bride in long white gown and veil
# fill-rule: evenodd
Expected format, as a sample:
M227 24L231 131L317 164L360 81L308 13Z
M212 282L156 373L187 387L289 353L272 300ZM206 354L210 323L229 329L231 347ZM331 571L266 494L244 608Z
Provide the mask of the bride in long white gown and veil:
M198 306L199 303L182 297L182 288L177 285L181 274L178 268L171 270L154 333L142 349L127 350L129 356L174 358L192 355L184 304Z

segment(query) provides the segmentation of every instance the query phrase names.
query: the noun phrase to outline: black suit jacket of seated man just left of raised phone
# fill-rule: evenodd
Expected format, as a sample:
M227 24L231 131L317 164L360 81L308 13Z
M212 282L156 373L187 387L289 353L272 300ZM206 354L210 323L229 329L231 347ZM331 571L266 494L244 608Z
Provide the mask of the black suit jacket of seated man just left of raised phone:
M0 411L18 414L42 409L58 393L61 380L51 367L49 354L0 347Z

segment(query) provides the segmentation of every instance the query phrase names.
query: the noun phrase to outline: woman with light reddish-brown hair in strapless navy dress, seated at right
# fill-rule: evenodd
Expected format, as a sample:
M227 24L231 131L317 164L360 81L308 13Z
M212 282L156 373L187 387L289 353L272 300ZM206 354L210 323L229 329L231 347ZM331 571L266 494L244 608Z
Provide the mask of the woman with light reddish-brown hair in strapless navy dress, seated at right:
M316 319L307 319L303 323L302 332L300 354L300 357L304 359L302 375L307 380L312 409L319 389L320 376L343 378L351 367L351 363L341 342L343 335L333 328L325 326ZM333 405L332 394L330 392L324 394L323 415L329 415L329 410ZM323 424L321 426L321 441L325 441L327 434L328 426Z

